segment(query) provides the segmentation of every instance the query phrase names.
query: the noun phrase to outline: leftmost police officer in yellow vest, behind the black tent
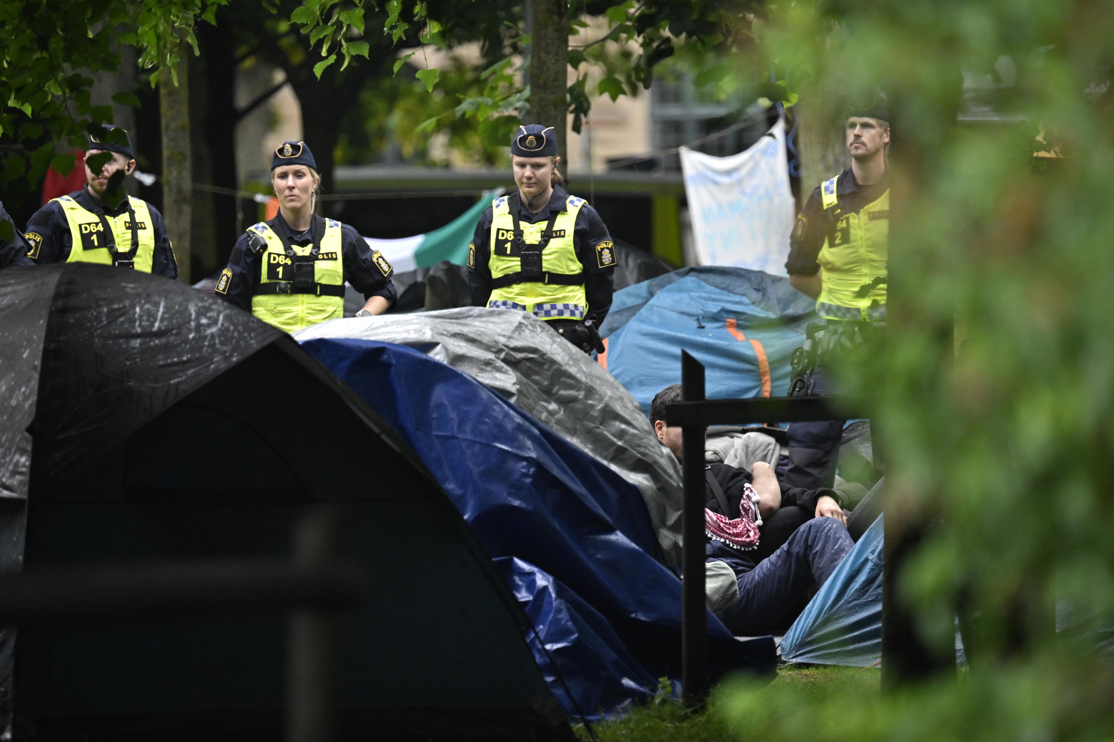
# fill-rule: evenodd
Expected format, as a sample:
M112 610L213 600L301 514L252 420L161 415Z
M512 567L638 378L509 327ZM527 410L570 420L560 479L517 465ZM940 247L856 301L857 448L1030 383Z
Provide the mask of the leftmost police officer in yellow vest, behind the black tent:
M111 158L94 173L89 160L101 153ZM90 134L85 162L85 187L51 199L27 223L27 256L40 265L96 263L177 279L178 264L158 209L131 196L116 206L106 203L109 178L136 168L128 133L108 127L104 137Z

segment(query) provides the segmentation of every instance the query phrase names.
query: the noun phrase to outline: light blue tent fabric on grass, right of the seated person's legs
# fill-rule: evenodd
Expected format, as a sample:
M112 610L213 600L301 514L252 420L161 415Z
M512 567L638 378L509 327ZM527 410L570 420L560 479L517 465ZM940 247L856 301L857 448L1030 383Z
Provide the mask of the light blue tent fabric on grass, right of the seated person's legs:
M869 667L881 658L882 519L867 529L790 626L782 660Z

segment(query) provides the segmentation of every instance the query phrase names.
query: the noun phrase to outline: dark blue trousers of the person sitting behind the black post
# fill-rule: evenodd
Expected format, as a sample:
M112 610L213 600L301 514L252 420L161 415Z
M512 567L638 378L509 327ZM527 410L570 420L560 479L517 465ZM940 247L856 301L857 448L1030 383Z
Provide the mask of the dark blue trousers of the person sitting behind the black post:
M782 631L854 544L836 518L813 518L759 565L739 575L739 599L720 619L735 636Z

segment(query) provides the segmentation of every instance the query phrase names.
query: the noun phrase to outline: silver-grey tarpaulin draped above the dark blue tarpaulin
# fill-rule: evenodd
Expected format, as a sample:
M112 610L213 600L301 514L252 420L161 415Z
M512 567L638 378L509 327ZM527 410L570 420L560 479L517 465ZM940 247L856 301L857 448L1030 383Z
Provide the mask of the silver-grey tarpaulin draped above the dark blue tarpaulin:
M681 467L657 442L638 402L606 369L540 320L465 307L331 320L295 333L409 345L471 374L634 484L665 563L681 563Z

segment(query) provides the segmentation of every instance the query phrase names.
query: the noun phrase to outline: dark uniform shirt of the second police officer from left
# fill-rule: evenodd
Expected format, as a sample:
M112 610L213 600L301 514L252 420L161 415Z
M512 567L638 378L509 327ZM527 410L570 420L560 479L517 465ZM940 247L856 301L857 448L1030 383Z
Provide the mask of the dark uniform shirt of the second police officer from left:
M314 216L314 219L322 217ZM303 247L313 243L313 230L305 232L294 232L286 224L282 212L267 222L272 230L281 230L292 245ZM242 310L252 311L252 295L255 286L260 284L260 269L263 265L262 253L252 252L248 247L248 235L240 235L236 245L232 248L228 257L228 267L232 277L228 280L228 289L225 293L217 293L228 302L232 302ZM364 301L372 296L382 296L390 303L394 303L394 284L391 283L393 270L388 270L383 275L382 269L372 260L372 250L360 236L360 233L346 224L341 225L341 262L344 265L344 280L353 289L363 294ZM384 261L385 263L385 261ZM388 265L390 269L390 266Z

